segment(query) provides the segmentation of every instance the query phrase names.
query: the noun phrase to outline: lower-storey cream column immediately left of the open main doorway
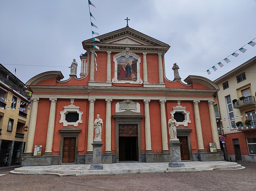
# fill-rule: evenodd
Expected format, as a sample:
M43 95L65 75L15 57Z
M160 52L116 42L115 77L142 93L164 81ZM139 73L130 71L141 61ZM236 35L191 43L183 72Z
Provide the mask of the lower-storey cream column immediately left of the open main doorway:
M106 149L105 153L111 152L111 102L112 99L105 99L107 102L106 106Z

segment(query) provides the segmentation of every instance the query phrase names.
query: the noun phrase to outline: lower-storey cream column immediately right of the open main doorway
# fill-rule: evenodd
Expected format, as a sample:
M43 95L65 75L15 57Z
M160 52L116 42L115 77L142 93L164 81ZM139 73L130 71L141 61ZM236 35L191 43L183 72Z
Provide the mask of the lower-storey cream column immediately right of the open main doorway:
M150 132L150 117L149 117L149 102L150 99L144 99L145 107L145 139L146 139L146 152L152 152L151 149L151 132Z

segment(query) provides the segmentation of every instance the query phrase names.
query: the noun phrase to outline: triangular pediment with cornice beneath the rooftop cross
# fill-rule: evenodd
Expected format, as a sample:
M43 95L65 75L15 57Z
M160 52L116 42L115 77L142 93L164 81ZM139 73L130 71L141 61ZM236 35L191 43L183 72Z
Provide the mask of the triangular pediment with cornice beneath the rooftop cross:
M130 27L124 27L110 33L102 34L96 37L100 40L94 41L94 45L100 47L100 50L105 51L109 49L118 50L124 49L124 47L131 46L133 50L140 51L154 51L165 53L170 46L160 40L156 40L144 33L141 33ZM93 48L93 39L84 40L82 42L84 50Z

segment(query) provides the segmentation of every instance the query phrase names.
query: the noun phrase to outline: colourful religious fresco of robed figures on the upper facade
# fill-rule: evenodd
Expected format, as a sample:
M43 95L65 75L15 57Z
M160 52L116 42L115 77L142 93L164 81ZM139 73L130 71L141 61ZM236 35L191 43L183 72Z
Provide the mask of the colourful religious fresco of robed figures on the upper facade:
M137 81L138 59L121 56L117 61L117 80Z

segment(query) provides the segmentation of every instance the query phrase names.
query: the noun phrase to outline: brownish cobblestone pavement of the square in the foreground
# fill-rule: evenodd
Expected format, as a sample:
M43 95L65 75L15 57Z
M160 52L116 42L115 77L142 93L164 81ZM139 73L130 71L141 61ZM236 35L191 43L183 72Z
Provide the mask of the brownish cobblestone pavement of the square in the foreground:
M256 164L239 164L246 168L82 177L5 174L0 176L0 190L256 190Z

